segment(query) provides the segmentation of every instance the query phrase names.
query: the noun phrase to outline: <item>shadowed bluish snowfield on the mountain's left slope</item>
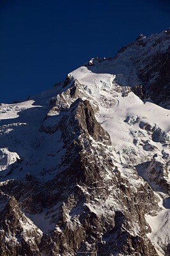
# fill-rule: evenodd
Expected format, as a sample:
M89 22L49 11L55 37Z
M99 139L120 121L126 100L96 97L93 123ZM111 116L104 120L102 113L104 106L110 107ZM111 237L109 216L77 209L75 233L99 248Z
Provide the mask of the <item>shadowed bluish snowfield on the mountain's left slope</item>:
M60 92L60 88L58 90ZM4 175L13 170L10 179L22 179L27 173L42 180L56 175L57 164L64 154L60 131L55 134L39 132L50 99L56 92L57 89L52 88L35 96L34 100L0 106L0 170ZM14 168L17 159L22 172Z

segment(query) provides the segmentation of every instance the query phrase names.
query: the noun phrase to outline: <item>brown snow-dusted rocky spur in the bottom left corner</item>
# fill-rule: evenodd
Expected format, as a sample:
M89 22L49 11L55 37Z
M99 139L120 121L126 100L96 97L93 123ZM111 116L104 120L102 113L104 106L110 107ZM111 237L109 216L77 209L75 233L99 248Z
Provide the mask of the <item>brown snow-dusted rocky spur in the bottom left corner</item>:
M41 255L42 232L20 211L17 200L1 193L1 255Z

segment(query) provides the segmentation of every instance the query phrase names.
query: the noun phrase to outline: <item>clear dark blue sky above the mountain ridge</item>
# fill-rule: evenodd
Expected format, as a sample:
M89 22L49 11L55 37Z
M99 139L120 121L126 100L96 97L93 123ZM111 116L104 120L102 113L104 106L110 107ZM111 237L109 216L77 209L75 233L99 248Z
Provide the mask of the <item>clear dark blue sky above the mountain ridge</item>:
M0 0L0 102L51 88L90 58L169 28L169 3Z

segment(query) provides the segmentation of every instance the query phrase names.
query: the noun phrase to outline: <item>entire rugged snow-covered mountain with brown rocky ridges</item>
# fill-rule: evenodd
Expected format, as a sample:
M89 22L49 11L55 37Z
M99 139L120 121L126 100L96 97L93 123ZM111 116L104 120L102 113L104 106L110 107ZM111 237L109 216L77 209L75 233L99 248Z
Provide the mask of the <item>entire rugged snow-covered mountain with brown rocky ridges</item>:
M170 255L170 29L0 106L2 256Z

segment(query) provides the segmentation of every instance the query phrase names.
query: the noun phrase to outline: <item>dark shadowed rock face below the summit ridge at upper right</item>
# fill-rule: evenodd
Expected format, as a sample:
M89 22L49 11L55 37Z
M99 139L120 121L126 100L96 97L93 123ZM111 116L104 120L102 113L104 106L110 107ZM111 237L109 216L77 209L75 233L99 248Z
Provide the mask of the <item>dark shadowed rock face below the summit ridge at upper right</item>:
M129 51L136 51L130 56L131 61L136 69L139 81L143 85L135 84L132 92L139 95L141 99L150 98L156 104L162 104L165 108L169 108L170 102L170 33L169 29L158 35L139 36L136 42L122 48L117 58L124 56Z

